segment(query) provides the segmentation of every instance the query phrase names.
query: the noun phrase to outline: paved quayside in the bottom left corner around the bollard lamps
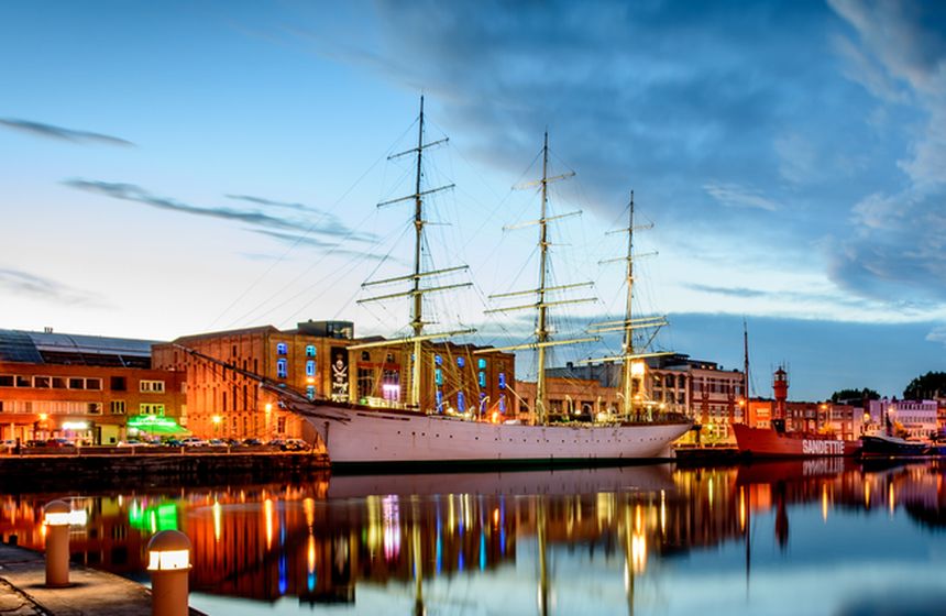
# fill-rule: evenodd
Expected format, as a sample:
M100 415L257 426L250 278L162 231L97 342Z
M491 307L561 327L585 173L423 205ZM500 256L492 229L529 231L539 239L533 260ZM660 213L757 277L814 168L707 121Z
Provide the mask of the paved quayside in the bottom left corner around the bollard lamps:
M0 543L2 616L151 616L151 591L119 575L70 563L68 587L45 581L42 553Z

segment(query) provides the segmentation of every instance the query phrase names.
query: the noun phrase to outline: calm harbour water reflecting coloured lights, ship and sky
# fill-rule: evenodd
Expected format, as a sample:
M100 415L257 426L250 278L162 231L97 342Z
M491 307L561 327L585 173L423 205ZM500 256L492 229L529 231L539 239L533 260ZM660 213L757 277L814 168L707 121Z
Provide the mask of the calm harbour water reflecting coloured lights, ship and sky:
M942 461L842 459L503 474L318 476L0 499L42 548L42 506L85 509L74 560L145 580L166 528L208 614L939 614Z

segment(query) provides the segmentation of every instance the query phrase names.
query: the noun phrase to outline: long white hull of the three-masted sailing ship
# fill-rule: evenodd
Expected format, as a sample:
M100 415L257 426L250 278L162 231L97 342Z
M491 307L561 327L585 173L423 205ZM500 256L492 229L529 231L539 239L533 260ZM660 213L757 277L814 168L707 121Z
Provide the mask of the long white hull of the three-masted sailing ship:
M671 443L690 424L526 426L466 421L409 411L292 405L328 449L346 464L605 463L671 458Z

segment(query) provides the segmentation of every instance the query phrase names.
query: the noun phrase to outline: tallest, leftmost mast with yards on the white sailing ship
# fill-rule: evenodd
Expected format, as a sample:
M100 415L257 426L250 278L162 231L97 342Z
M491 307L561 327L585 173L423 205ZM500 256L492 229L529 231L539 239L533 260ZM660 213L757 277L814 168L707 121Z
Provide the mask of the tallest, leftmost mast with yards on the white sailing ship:
M410 395L407 399L407 405L411 408L419 409L421 404L421 395L420 395L420 386L422 380L422 367L424 367L424 356L422 352L422 342L429 340L436 340L441 338L449 338L451 336L462 336L473 333L474 329L462 329L454 331L446 331L440 333L424 333L424 326L428 324L427 321L424 320L424 295L432 292L448 290L461 287L469 287L472 283L460 283L452 285L441 285L436 287L422 287L420 282L422 278L428 276L437 276L440 274L447 274L450 272L460 272L465 271L469 267L466 265L461 265L459 267L448 267L444 270L435 270L430 272L425 272L422 268L421 257L424 252L424 228L427 224L427 220L424 218L424 197L427 195L432 195L435 193L440 193L441 190L449 190L453 188L453 184L440 186L437 188L428 188L422 189L421 182L424 178L424 151L428 147L433 147L437 145L441 145L447 143L449 138L444 138L438 141L433 141L430 143L424 143L424 97L420 97L420 116L417 121L417 147L411 147L410 150L405 150L404 152L398 152L397 154L392 154L387 157L388 161L394 158L399 158L400 156L405 156L407 154L416 154L417 155L417 170L415 175L414 182L414 194L407 195L405 197L399 197L397 199L389 199L387 201L382 201L377 205L377 207L382 208L385 206L391 206L394 204L400 204L404 201L414 201L414 232L415 232L415 241L414 241L414 273L407 276L397 276L394 278L386 278L382 280L372 280L362 284L362 288L366 288L375 285L384 285L389 283L398 283L410 280L411 288L406 293L394 293L387 295L381 295L376 297L370 297L365 299L359 300L359 304L365 304L369 301L380 301L385 299L393 299L396 297L410 297L411 298L411 307L410 307L410 328L414 332L414 336L407 338L399 338L394 340L382 340L378 342L369 342L365 344L353 344L349 346L349 350L359 350L359 349L370 349L375 346L391 346L392 344L403 342L403 343L413 343L414 353L411 355L410 362ZM439 409L438 409L439 410Z

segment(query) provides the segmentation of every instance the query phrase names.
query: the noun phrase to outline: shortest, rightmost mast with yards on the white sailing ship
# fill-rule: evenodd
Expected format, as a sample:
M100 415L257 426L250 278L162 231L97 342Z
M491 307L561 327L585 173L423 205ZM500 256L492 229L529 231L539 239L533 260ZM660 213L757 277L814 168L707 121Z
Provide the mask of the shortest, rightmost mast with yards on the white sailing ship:
M652 256L657 254L647 253L647 254L634 254L634 232L636 230L644 229L652 229L653 223L650 222L648 224L642 224L635 227L634 226L634 190L630 191L630 201L628 202L628 222L626 229L618 229L616 231L609 231L608 235L615 233L627 233L627 255L617 258L607 258L602 261L601 263L615 263L615 262L625 262L626 264L626 273L625 273L625 284L627 285L627 298L625 300L625 309L624 309L624 320L623 321L606 321L601 323L593 323L588 331L593 333L606 333L606 332L623 332L624 340L622 343L622 354L614 355L609 358L595 358L588 360L582 360L579 363L587 364L592 362L613 362L620 361L620 388L622 392L619 394L622 398L620 411L622 415L629 419L634 416L635 413L635 394L634 394L634 372L635 372L635 363L634 360L642 360L645 358L657 358L661 355L670 355L672 353L666 351L659 352L637 352L634 348L634 331L637 329L652 329L650 337L647 342L641 345L641 350L647 349L650 343L653 341L653 338L657 336L657 331L667 324L667 319L664 317L639 317L635 318L632 312L634 305L634 260L639 258L641 256ZM642 386L642 384L641 384Z

